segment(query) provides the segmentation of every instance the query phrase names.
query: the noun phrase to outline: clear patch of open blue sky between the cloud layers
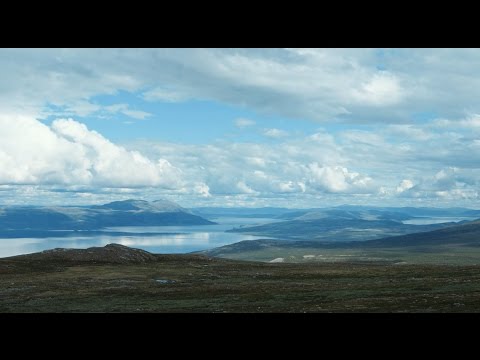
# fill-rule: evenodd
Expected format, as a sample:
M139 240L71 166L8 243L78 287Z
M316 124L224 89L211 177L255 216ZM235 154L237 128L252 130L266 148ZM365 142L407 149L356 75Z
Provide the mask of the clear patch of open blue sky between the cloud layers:
M86 116L75 117L89 129L118 142L140 138L191 144L207 144L222 139L265 142L273 138L262 136L262 129L276 128L307 134L320 127L319 124L305 119L260 114L245 106L214 100L147 101L141 92L119 91L117 94L92 97L90 102L100 108L128 104L129 110L145 113L140 114L142 118L136 118L121 110L110 113L99 110ZM51 114L43 119L46 124L51 124L62 112L69 114L62 107L49 106L49 109ZM251 126L238 126L238 119L254 119L252 121L255 122L255 131L246 131L252 130ZM327 126L331 131L346 127L342 124Z

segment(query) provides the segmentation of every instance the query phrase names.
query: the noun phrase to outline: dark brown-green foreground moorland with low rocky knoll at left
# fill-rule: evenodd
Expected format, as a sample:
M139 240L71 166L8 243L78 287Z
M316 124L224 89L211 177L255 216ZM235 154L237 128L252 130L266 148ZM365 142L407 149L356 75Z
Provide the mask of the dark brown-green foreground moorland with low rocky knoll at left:
M0 275L2 313L480 311L479 266L266 264L108 245L3 258Z

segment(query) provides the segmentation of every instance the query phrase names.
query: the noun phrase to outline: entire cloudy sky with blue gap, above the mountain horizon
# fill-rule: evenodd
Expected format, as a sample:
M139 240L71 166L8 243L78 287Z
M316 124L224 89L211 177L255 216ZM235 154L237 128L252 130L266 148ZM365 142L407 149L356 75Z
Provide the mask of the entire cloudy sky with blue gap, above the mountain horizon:
M0 49L0 204L480 208L479 49Z

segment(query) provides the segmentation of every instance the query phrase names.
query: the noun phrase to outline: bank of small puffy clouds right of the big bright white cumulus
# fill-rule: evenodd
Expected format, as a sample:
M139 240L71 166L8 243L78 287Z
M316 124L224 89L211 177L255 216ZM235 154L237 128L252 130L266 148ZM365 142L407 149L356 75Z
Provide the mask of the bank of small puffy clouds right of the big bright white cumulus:
M323 201L329 203L368 198L378 205L418 201L439 206L444 201L446 206L457 199L457 204L474 206L480 187L478 136L471 128L454 129L435 120L385 124L374 132L365 127L292 133L274 143L130 146L151 158L162 154L186 178L207 184L212 201L233 201L226 197L243 194L267 204L272 199L311 204L326 196Z

